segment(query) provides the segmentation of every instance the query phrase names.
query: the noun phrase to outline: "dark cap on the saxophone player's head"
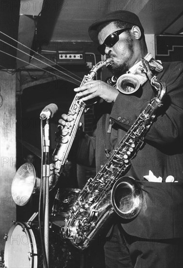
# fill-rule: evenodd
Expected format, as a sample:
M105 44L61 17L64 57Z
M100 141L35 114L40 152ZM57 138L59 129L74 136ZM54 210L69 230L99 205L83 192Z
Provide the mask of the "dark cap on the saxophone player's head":
M126 10L118 10L118 11L105 14L103 18L94 21L94 23L88 29L88 34L89 34L89 37L92 39L92 41L98 43L97 28L100 24L105 23L105 22L110 22L110 21L112 22L115 20L132 23L133 25L138 26L142 31L144 31L142 24L136 14L130 11L126 11Z

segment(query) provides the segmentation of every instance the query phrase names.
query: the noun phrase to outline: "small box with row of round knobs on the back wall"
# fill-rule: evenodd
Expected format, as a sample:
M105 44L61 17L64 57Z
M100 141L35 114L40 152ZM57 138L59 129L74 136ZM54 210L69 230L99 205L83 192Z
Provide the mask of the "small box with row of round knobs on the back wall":
M85 64L83 51L57 51L57 63L59 64Z

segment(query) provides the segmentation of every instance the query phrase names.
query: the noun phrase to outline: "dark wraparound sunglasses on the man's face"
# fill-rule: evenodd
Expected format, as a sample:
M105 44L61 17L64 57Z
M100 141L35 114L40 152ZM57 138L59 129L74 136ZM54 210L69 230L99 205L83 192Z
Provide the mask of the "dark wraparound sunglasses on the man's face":
M112 34L110 34L108 37L105 38L103 44L98 46L98 51L100 52L101 55L105 55L105 47L113 47L117 41L119 40L119 35L127 30L130 30L132 28L124 28L121 30L118 30Z

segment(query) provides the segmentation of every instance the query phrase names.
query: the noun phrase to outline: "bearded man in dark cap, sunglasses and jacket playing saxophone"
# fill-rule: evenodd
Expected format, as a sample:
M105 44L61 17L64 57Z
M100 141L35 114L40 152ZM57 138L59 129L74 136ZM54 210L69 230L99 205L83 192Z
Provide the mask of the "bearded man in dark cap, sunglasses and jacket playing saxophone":
M78 163L92 165L95 159L99 172L116 144L156 96L141 58L149 62L153 75L166 83L163 105L126 172L140 181L146 201L133 219L114 218L104 246L106 268L181 268L182 63L161 64L152 58L143 26L132 12L105 15L89 27L89 36L98 43L102 55L113 59L108 66L113 77L107 83L91 80L75 89L83 101L100 97L96 136L83 134L73 144ZM123 80L121 88L116 88L117 78L123 74L138 77L137 91ZM65 121L67 115L62 115L60 124L65 125Z

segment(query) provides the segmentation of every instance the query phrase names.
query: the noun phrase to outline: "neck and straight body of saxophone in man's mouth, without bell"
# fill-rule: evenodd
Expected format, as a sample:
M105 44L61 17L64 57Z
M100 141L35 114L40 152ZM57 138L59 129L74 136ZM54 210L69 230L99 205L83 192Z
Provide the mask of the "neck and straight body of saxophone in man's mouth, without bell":
M83 77L83 81L80 86L85 84L87 81L93 80L97 75L97 71L101 67L113 64L112 60L112 58L108 58L105 61L100 61L95 66L93 66L89 74ZM57 175L63 172L63 168L67 163L68 153L79 127L81 116L86 109L85 107L86 103L78 96L75 96L67 115L68 122L66 123L66 126L62 132L59 132L57 134L57 143L52 154L52 160L54 161L54 172Z

